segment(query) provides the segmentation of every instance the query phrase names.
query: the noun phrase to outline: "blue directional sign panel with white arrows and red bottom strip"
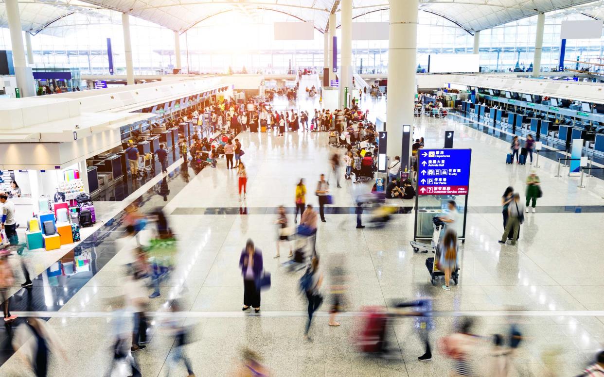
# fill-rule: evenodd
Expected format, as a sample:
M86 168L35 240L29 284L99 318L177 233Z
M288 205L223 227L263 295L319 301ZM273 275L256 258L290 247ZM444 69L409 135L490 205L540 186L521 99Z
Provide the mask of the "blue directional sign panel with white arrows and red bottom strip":
M472 149L417 151L419 195L467 195Z

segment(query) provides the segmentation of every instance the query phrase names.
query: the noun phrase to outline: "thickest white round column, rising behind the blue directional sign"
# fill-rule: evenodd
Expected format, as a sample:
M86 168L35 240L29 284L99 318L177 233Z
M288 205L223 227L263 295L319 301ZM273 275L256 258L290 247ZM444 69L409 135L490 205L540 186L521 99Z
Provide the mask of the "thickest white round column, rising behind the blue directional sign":
M416 87L418 0L390 2L390 43L388 45L388 102L386 108L387 154L399 155L406 166L409 155L402 155L403 126L411 126ZM408 150L411 150L411 139Z

